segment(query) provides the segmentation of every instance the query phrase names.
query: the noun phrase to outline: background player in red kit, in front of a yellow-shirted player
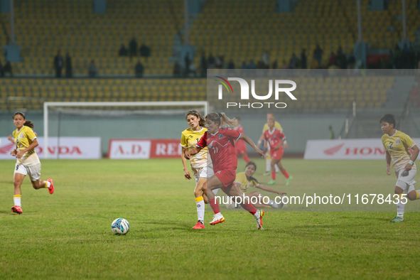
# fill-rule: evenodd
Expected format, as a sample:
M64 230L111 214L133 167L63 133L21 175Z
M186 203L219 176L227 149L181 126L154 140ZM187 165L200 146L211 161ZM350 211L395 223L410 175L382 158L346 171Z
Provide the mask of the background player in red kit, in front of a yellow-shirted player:
M290 184L292 176L289 176L286 169L281 164L281 157L283 157L284 149L283 144L286 141L286 136L284 136L283 132L279 129L274 127L275 121L274 119L268 120L269 129L264 131L264 140L269 142L270 145L270 153L271 153L271 181L269 181L269 185L274 185L276 183L276 166L279 166L281 173L283 173L284 177L286 177L286 185ZM266 144L264 144L264 147Z

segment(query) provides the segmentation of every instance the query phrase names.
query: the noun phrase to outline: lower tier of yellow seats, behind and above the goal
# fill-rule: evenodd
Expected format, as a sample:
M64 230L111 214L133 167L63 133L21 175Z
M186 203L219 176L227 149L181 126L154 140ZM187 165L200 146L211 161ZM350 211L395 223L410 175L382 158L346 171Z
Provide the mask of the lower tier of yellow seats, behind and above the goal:
M393 77L296 77L291 109L382 107ZM257 85L262 82L256 82ZM266 90L257 87L257 90ZM42 109L45 101L206 100L205 79L0 79L0 109ZM229 101L229 99L227 99ZM232 100L234 101L234 100Z

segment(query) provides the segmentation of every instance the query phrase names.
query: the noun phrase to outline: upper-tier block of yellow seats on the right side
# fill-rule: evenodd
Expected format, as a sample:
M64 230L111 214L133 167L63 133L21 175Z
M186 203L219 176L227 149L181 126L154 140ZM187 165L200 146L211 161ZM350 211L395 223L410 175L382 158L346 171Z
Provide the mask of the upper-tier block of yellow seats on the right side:
M355 1L299 0L294 13L278 14L276 1L260 5L253 0L207 1L202 14L195 19L190 32L191 42L199 50L213 55L225 55L237 68L250 59L261 60L269 50L270 60L278 63L306 48L308 65L316 44L323 48L323 64L330 53L341 45L351 53L357 41L357 6ZM389 9L370 11L368 1L362 1L363 38L371 48L393 48L402 40L401 1L390 0ZM229 12L227 12L229 11ZM406 1L407 33L415 41L414 32L420 25L420 10L416 0ZM247 15L247 16L244 16ZM200 58L195 57L199 65Z

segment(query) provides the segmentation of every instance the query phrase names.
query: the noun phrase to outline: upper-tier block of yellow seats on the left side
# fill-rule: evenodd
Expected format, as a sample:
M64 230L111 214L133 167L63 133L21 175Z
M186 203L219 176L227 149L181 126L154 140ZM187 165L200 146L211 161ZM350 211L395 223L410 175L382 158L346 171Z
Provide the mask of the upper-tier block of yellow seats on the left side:
M70 53L75 75L87 75L92 59L101 75L134 74L136 59L118 57L120 46L134 36L139 45L151 47L151 57L142 60L145 74L170 74L168 58L183 24L183 1L109 0L108 11L92 14L92 1L84 0L15 1L16 41L24 58L14 63L15 72L53 75L53 58L60 49L62 55ZM1 17L10 30L9 14Z

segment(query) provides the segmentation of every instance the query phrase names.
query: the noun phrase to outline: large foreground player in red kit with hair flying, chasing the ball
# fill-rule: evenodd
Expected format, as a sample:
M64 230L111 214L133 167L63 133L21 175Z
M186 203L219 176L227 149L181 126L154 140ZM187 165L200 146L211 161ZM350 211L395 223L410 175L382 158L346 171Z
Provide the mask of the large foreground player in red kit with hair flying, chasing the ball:
M197 154L204 147L208 147L215 175L211 176L207 181L207 196L208 202L210 203L212 210L215 212L210 225L216 225L220 222L225 222L225 218L220 213L219 205L217 204L217 200L215 199L215 195L212 193L212 190L222 188L222 190L229 196L241 196L240 190L232 188L232 185L235 185L235 170L237 168L234 141L239 139L244 140L263 158L264 153L255 146L254 142L252 142L248 136L240 134L238 131L232 129L220 127L237 126L236 120L229 119L226 117L225 113L218 114L211 112L205 117L205 119L208 131L205 131L205 134L201 137L200 141L198 141L197 146L194 149L185 152L185 158L190 158L191 155ZM254 215L255 220L257 220L257 229L262 229L262 217L264 216L264 212L255 209L254 205L249 203L249 201L247 203L244 201L241 206L244 210L247 210Z

